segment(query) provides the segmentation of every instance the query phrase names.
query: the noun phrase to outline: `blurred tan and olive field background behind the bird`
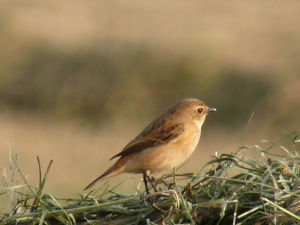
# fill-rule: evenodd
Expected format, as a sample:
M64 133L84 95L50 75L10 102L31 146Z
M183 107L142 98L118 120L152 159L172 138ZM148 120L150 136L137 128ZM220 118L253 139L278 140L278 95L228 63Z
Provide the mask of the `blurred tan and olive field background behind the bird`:
M8 149L19 149L30 184L38 184L39 156L43 173L54 159L47 192L82 194L113 163L110 157L186 97L218 111L180 172L199 172L215 152L264 148L270 144L262 140L300 129L296 1L3 0L0 6L0 167L9 182ZM111 178L110 187L125 179L117 190L134 193L140 175ZM17 183L24 183L20 176ZM0 195L1 205L6 201Z

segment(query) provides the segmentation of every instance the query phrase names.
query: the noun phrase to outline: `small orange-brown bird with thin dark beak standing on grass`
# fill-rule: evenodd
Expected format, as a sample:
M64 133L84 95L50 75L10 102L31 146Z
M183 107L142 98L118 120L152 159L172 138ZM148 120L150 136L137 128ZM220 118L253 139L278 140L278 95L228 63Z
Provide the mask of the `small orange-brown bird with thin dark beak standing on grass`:
M149 193L146 180L150 181L149 174L171 169L187 160L199 142L207 113L212 111L216 109L197 99L177 102L113 156L111 159L120 158L84 190L121 173L142 173Z

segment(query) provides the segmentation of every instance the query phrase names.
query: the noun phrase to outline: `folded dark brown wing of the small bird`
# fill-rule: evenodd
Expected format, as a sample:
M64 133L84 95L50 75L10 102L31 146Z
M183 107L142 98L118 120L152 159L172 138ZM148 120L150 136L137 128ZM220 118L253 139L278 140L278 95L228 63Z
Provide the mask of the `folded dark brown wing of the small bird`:
M141 134L129 142L120 153L111 159L169 143L176 139L183 131L184 124L182 123L170 124L167 120L153 121Z

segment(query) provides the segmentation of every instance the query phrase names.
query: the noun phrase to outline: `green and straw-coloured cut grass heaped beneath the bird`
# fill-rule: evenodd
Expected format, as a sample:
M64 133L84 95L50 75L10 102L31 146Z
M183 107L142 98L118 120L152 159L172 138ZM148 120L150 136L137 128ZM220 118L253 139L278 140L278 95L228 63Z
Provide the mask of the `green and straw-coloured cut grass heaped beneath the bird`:
M14 173L9 180L1 169L9 207L0 214L0 224L299 224L299 134L289 133L266 149L246 146L215 155L197 175L153 178L159 191L148 195L138 188L135 195L117 193L105 183L88 194L57 198L44 192L52 160L43 175L38 159L40 182L34 186L22 173L18 153L9 152ZM291 149L281 145L285 140ZM275 147L282 154L274 153ZM258 151L260 159L248 158L251 151ZM13 184L17 174L23 185Z

